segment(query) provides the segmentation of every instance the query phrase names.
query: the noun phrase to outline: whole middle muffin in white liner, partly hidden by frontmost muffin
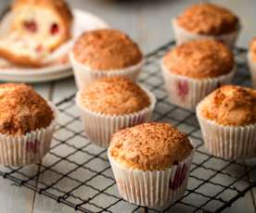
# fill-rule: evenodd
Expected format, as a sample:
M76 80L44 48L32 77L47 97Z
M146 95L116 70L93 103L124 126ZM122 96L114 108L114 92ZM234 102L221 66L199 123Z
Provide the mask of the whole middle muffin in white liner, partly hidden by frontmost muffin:
M96 80L80 90L76 103L88 138L107 147L112 133L148 121L156 99L130 79L116 76Z

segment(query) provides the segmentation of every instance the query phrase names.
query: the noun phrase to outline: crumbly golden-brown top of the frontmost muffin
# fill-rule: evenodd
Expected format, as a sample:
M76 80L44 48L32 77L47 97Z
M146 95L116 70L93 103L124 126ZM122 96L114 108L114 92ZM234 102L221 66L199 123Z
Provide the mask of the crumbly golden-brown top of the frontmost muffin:
M149 122L114 133L109 155L129 169L167 169L193 149L185 133L168 123Z

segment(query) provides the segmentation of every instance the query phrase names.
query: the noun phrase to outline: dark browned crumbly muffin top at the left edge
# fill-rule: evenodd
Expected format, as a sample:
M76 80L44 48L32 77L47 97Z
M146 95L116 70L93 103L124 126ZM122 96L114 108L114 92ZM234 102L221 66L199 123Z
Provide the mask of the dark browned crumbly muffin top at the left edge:
M20 136L46 128L54 119L45 99L21 83L0 85L0 133Z

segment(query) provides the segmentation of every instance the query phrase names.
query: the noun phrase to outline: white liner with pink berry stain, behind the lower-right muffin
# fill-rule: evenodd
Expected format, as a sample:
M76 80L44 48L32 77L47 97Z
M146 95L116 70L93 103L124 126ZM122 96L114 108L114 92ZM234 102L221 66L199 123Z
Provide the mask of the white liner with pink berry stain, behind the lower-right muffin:
M232 81L236 67L228 74L203 80L174 74L165 68L161 61L161 70L170 102L179 107L195 110L198 102L221 85Z

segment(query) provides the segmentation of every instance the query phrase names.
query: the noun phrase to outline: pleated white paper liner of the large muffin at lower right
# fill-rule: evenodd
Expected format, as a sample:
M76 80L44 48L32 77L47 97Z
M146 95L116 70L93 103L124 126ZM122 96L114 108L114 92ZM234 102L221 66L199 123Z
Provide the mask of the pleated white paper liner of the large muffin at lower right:
M209 153L224 159L256 157L256 124L224 126L204 118L197 107L197 117L205 147Z

